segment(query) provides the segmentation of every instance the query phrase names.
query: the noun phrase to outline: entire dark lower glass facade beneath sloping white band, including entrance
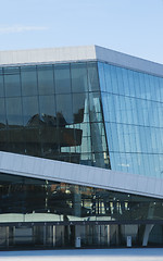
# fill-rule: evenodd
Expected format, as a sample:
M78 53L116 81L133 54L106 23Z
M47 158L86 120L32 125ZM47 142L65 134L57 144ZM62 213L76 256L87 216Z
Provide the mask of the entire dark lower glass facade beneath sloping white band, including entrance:
M163 244L161 199L1 173L0 249Z

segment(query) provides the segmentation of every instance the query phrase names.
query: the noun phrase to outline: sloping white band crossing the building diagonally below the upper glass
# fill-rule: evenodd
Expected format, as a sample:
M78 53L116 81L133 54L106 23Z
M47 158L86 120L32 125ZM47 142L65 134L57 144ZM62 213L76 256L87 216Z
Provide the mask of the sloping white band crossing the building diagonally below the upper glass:
M163 179L161 178L10 152L0 152L0 172L163 198Z

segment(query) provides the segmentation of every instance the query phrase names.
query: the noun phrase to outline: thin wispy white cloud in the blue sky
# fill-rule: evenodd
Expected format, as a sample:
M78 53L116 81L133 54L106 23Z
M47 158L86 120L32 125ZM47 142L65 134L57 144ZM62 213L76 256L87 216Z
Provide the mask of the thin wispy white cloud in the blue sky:
M13 34L13 33L24 33L32 30L47 30L46 26L24 26L24 25L12 25L12 26L0 26L0 34Z

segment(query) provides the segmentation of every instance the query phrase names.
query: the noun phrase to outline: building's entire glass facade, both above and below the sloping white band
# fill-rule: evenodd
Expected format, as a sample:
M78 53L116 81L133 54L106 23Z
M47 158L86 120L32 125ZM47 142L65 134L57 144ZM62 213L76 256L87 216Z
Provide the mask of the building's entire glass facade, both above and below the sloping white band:
M0 69L0 151L160 178L162 119L162 77L102 62ZM163 244L162 199L0 173L0 247L78 235L142 246L147 224L149 244Z

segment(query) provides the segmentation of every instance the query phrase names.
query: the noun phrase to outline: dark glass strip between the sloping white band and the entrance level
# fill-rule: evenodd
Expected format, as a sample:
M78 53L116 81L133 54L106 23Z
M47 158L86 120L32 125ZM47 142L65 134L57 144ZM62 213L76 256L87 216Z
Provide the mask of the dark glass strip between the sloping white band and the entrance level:
M163 201L66 183L0 174L0 222L155 221Z

